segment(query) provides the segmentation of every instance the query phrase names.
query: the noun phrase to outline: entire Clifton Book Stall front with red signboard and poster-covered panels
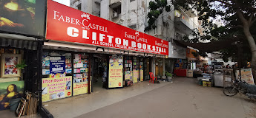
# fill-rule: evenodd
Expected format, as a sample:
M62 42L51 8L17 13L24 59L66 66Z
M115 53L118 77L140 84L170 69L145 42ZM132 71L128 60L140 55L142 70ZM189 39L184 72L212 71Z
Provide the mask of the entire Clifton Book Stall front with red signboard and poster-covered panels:
M43 102L148 80L151 57L168 55L167 41L51 0L46 31Z

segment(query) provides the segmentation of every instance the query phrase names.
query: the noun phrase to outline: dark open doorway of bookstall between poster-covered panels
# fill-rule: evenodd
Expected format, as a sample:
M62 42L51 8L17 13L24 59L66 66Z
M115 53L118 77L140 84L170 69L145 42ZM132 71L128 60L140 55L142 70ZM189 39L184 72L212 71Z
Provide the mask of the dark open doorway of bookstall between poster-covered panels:
M92 92L99 91L108 85L108 55L93 54L92 58Z

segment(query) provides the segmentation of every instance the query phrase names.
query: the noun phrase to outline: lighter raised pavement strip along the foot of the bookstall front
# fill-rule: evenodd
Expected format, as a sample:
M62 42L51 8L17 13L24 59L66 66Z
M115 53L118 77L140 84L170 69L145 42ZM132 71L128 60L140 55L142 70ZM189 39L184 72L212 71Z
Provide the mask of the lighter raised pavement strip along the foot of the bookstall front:
M45 108L53 114L53 117L78 117L90 111L118 103L131 97L158 89L174 83L163 82L160 84L148 83L148 81L134 83L134 86L124 89L96 89L91 94L82 94L68 97L62 100L53 100L43 103ZM146 98L145 98L146 99Z

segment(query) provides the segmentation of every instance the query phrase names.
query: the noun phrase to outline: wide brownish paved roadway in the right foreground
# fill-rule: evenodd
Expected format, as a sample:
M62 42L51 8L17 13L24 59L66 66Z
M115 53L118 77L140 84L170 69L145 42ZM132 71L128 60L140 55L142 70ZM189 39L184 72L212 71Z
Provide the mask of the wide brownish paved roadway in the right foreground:
M79 116L87 118L255 118L256 101L243 94L227 97L223 89L197 86L197 79L174 83Z

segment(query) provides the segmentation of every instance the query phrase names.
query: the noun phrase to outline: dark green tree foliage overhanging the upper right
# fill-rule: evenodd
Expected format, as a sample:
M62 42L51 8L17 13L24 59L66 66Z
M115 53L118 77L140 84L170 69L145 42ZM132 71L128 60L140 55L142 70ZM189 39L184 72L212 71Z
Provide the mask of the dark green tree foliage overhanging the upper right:
M198 20L201 21L203 34L199 30L194 29L194 38L184 37L183 41L191 43L199 43L199 40L203 41L230 41L232 44L234 41L240 41L243 43L243 60L252 60L252 52L249 45L248 33L245 34L243 27L249 24L249 30L252 37L256 38L256 1L255 0L171 0L170 2L163 2L166 4L160 4L160 0L151 1L149 7L150 10L159 10L160 14L165 9L170 9L170 6L174 6L174 10L179 10L181 7L185 10L197 10ZM168 6L168 7L167 7ZM165 7L165 9L163 9ZM153 12L154 13L154 12ZM238 14L241 13L246 20L246 24L243 18ZM155 14L155 13L154 13ZM154 22L160 16L160 14L151 15L148 14L148 27L145 30L151 30L155 28ZM214 24L215 19L223 21L222 26ZM209 47L206 47L209 48ZM229 57L232 57L234 61L237 61L237 49L222 49L221 54L223 60L227 61ZM202 54L200 54L202 53ZM203 55L203 52L198 52L194 55Z

